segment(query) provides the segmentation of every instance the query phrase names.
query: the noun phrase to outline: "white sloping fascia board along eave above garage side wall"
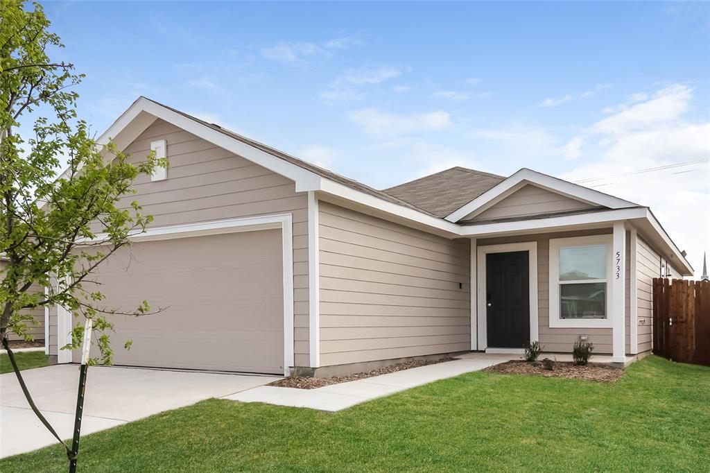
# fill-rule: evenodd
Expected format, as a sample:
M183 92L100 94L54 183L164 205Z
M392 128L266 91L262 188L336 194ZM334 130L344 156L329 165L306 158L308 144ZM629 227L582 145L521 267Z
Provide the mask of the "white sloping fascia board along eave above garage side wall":
M405 207L403 205L388 202L380 197L366 194L365 192L336 183L332 180L323 178L320 183L320 190L322 192L327 192L328 194L336 195L337 197L358 202L362 205L366 205L367 207L372 207L373 209L387 212L388 214L397 215L398 217L424 224L428 227L449 232L453 237L457 237L461 233L460 225L447 222L446 220L438 217L432 217L431 215L419 212L418 210L410 209L409 207Z

